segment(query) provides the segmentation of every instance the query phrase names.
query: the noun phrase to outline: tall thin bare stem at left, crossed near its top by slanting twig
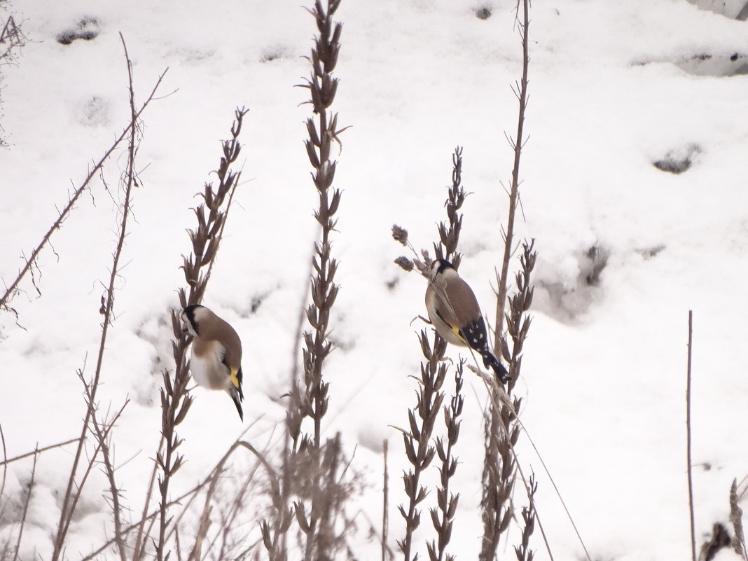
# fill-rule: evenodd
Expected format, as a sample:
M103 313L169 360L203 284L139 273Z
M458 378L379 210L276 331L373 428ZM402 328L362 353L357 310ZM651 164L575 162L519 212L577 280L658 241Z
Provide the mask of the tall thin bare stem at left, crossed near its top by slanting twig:
M132 62L130 61L129 55L127 54L127 46L125 40L120 34L120 40L122 40L123 49L125 52L125 59L127 63L127 75L129 83L129 105L130 105L130 125L129 130L129 141L128 141L128 159L127 168L123 178L120 180L121 188L124 192L124 200L120 207L120 227L117 237L117 247L114 250L113 263L109 275L109 282L106 291L105 303L103 306L104 321L102 323L102 333L99 341L99 354L96 358L96 371L93 374L93 379L87 388L87 408L85 419L81 430L81 436L78 442L76 450L76 456L73 460L73 467L70 470L70 477L67 482L67 489L64 494L62 506L60 509L60 520L58 522L57 533L55 535L54 548L52 550L52 561L60 559L62 552L64 551L65 538L67 531L70 527L70 522L73 519L73 514L76 509L78 500L82 494L85 480L88 479L88 473L90 473L93 463L96 462L96 456L98 456L101 450L103 441L100 441L96 447L96 451L88 459L88 468L84 471L82 479L76 480L78 475L79 462L82 459L82 453L85 447L85 438L88 432L91 430L92 419L94 415L94 408L96 403L96 390L99 387L99 380L102 373L102 364L104 360L105 343L111 325L111 319L114 309L114 283L117 281L119 273L120 257L124 246L125 237L127 234L127 221L130 214L130 197L132 194L132 188L135 185L135 155L138 151L138 144L141 138L141 128L138 121L138 113L135 111L135 92L132 88ZM162 75L163 76L163 75ZM160 82L160 79L159 79ZM158 87L158 84L156 84ZM154 88L155 92L155 88ZM151 93L151 97L153 93ZM150 98L149 98L150 100ZM75 487L75 490L73 489ZM116 488L115 488L116 491ZM115 517L119 515L119 512L115 512Z

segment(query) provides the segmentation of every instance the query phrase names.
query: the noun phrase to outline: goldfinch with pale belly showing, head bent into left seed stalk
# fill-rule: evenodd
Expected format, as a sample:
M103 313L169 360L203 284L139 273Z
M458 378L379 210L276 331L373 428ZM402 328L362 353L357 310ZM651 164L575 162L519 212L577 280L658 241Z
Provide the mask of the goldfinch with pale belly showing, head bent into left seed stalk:
M200 304L186 307L182 321L193 337L189 363L192 378L209 390L225 390L243 421L242 340L239 335L224 319Z

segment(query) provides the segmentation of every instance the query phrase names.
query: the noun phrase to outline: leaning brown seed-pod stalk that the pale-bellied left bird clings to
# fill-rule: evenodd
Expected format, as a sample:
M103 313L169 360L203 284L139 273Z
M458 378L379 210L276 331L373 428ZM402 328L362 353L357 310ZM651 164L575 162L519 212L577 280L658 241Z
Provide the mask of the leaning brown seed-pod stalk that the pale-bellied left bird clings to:
M239 133L242 131L242 119L246 109L236 109L235 120L231 126L231 138L223 141L223 156L215 174L218 176L218 188L212 183L206 183L200 196L203 202L194 209L197 218L197 228L188 230L192 243L192 253L183 256L183 272L188 291L180 287L178 293L181 309L192 304L200 304L210 278L212 265L218 255L221 243L221 233L226 221L230 202L236 186L239 183L239 172L231 171L230 167L236 162L241 152ZM224 203L226 206L224 207ZM171 326L174 332L172 350L174 354L174 377L169 370L163 371L164 387L161 389L162 408L162 445L156 453L156 463L159 467L159 537L156 540L156 559L164 561L168 557L167 529L170 523L168 507L169 482L174 473L182 467L183 456L177 452L182 440L177 436L177 426L182 423L189 411L192 397L187 391L189 381L187 348L190 343L188 334L181 325L181 309L171 310ZM145 547L147 533L138 530L137 545ZM135 551L139 550L136 546Z

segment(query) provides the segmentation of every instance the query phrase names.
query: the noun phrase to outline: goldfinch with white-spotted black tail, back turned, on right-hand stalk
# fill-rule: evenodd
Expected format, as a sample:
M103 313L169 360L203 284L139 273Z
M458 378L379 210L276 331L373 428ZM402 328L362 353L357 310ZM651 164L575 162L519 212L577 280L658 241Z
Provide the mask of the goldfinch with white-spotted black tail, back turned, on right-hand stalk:
M502 384L509 381L506 368L491 352L485 320L473 289L446 259L435 260L429 269L426 310L437 333L447 343L470 347L479 353L483 366L490 367Z

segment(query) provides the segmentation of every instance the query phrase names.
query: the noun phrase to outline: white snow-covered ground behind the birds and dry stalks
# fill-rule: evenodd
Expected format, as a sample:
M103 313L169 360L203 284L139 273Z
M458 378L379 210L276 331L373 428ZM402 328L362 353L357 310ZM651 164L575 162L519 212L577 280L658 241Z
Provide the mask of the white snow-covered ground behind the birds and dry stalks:
M190 207L236 106L250 109L242 132L242 184L204 304L224 316L245 346L245 418L262 445L278 438L298 310L305 301L316 193L303 147L308 73L316 28L294 0L178 5L71 0L10 9L29 42L4 67L0 150L0 276L15 278L91 162L127 123L126 66L142 101L168 67L144 114L141 188L117 286L99 399L129 398L115 434L118 476L132 508L158 443L160 370L171 367L168 310L177 305L189 251ZM414 405L420 347L411 320L425 312L425 285L393 263L402 253L392 224L429 248L444 218L451 153L464 147L461 274L489 319L491 281L503 251L521 74L514 1L343 0L340 78L333 109L343 150L343 189L334 256L340 283L326 365L327 435L356 444L354 464L371 486L361 509L381 518L381 442L390 440L390 546L402 536L396 505L405 426ZM699 543L726 521L732 479L748 473L748 23L741 2L685 0L536 1L530 25L530 105L518 234L536 239L536 300L517 390L525 426L565 497L594 559L684 559L690 554L686 461L687 312L694 314L693 463ZM719 4L723 13L704 8ZM488 19L476 10L488 7ZM85 25L83 25L85 24ZM96 31L68 45L66 31ZM168 95L167 95L168 94ZM681 174L654 162L688 159ZM43 252L37 285L13 301L18 324L0 318L0 424L13 457L74 438L83 415L76 370L93 372L100 299L117 215L111 197L122 151ZM593 256L593 257L590 257ZM594 257L597 256L597 257ZM586 282L599 275L597 283ZM390 287L392 286L393 287ZM450 349L450 355L459 355ZM87 361L88 357L88 363ZM451 387L451 384L450 384ZM188 459L174 493L190 488L242 432L230 399L194 390L179 433ZM479 548L482 384L468 378L456 454L461 499L453 545ZM520 459L539 477L538 509L557 559L580 546L539 461L521 438ZM49 557L71 448L43 453L22 558ZM707 469L708 467L708 469ZM28 483L31 460L8 470L6 506ZM432 468L435 470L435 468ZM108 507L103 476L89 483L67 555L96 548ZM521 496L521 495L520 495ZM519 500L519 497L518 497ZM362 515L364 516L364 515ZM12 522L6 518L6 522ZM7 528L6 528L7 529ZM424 515L419 547L430 539ZM363 559L378 545L361 544ZM539 559L548 554L537 536ZM512 551L506 551L512 555ZM730 554L723 554L729 557Z

